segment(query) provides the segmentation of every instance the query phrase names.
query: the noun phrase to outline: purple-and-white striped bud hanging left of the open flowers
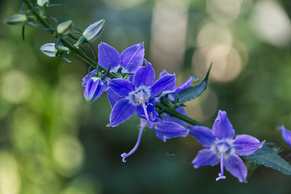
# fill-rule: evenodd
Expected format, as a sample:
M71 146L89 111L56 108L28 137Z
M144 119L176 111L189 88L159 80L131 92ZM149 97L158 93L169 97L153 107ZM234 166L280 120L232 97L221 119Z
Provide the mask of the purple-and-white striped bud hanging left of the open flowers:
M100 78L89 78L86 88L84 90L84 97L88 103L92 103L103 92L104 84Z

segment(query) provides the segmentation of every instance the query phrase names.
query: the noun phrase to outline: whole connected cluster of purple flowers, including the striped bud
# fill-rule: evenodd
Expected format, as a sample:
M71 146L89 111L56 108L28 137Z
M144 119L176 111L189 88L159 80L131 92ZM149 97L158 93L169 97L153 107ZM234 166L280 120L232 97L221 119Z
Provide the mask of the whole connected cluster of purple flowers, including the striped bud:
M145 127L152 128L159 139L166 142L173 137L185 137L190 133L206 149L200 150L192 161L194 168L204 165L215 166L220 163L221 173L216 179L225 179L223 167L240 182L246 181L247 168L239 157L250 155L262 147L264 142L249 135L238 135L228 121L226 112L219 111L212 130L208 127L190 126L189 123L166 113L158 114L156 101L167 98L175 101L175 96L182 90L191 87L197 78L191 76L183 84L176 87L175 73L162 71L155 81L155 70L152 64L144 59L143 43L135 44L125 49L121 54L115 48L101 42L98 46L98 64L104 69L110 67L114 79L100 80L94 77L96 70L83 78L84 97L88 102L96 100L103 91L111 105L111 114L107 127L116 127L131 118L134 113L140 117L139 135L134 148L121 154L123 162L132 155L139 146ZM145 66L143 65L145 61ZM110 65L110 66L109 66ZM133 74L133 75L132 75ZM184 107L177 107L177 112L187 116Z

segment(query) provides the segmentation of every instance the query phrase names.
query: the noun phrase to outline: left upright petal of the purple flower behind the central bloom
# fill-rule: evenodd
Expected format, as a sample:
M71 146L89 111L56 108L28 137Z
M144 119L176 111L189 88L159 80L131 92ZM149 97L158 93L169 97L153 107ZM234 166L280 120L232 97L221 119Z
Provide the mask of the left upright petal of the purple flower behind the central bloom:
M98 64L104 69L108 69L108 65L110 64L110 71L116 73L120 67L120 56L118 51L105 42L101 42L98 45L98 50Z

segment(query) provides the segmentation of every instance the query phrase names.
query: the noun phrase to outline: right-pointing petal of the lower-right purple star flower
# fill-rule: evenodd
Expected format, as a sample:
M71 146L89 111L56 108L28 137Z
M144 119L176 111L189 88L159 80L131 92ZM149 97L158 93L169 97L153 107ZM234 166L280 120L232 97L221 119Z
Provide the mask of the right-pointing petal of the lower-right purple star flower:
M262 148L265 142L260 142L257 138L250 135L238 135L233 140L235 152L240 156L247 156Z

